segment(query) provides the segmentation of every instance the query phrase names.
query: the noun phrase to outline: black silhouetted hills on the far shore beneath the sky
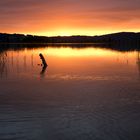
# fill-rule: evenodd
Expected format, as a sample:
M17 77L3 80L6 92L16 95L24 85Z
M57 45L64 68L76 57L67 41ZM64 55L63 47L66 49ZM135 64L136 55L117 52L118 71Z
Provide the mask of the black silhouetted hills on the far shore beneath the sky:
M101 36L35 36L0 33L0 43L138 43L140 33L121 32Z

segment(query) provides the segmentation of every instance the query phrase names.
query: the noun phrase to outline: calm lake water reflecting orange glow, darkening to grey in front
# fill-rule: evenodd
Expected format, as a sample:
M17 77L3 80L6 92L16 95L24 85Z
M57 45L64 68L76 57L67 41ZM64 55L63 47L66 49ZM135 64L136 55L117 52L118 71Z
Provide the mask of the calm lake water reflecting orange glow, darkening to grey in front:
M139 132L139 52L0 53L0 140L139 140Z

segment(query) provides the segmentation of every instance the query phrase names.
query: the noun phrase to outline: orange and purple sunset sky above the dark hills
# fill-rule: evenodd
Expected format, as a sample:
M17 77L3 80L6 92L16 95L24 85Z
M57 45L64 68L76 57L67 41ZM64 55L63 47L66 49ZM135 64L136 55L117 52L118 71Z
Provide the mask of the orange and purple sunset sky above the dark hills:
M99 35L140 32L140 0L1 0L0 32Z

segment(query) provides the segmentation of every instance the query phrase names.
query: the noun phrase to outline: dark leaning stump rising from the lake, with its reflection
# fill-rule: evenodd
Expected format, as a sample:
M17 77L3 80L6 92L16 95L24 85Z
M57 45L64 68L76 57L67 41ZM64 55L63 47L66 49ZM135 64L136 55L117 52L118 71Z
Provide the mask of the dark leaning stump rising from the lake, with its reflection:
M41 77L44 77L48 64L46 63L46 60L45 60L44 56L41 53L39 54L39 56L40 56L40 59L42 61L42 64L41 64L42 70L40 72L40 75L41 75Z

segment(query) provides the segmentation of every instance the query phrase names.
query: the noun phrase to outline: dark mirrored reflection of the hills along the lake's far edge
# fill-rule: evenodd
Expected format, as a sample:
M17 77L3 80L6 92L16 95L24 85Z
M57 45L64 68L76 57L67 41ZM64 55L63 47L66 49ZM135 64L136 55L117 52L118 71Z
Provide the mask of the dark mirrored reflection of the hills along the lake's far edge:
M71 48L104 48L116 51L140 51L140 44L134 42L125 43L0 43L0 52L13 49L21 50L24 48L44 48L44 47L71 47Z

